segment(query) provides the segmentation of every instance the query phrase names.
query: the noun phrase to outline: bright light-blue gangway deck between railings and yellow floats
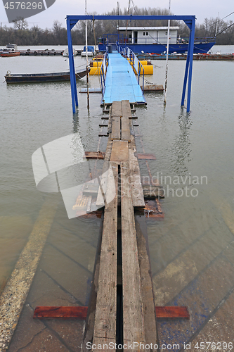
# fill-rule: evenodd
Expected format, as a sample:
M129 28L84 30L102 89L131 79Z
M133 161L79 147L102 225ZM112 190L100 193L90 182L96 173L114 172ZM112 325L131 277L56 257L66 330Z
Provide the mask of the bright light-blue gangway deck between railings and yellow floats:
M117 52L109 54L103 100L105 104L122 100L145 103L143 92L129 61Z

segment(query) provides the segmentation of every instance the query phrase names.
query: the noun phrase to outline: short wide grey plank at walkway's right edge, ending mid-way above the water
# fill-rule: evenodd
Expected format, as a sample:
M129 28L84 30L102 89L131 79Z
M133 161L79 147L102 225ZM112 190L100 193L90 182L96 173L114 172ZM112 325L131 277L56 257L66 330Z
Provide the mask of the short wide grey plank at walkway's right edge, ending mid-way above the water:
M134 155L136 153L136 144L134 141L134 136L131 136L131 143L129 144L129 169L130 169L130 180L131 180L131 190L132 199L134 206L144 207L144 194L141 184L141 174L138 164L138 159Z

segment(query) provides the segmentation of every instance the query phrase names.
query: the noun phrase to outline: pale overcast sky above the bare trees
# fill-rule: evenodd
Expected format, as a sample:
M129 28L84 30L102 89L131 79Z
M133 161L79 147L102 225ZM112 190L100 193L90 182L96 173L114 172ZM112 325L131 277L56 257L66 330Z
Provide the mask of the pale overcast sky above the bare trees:
M25 2L27 1L31 0L25 0ZM168 8L169 0L134 0L134 4L135 6L138 6L138 8L143 6L146 8ZM2 1L0 6L0 23L2 23L2 25L9 25ZM122 9L124 9L124 7L126 8L128 6L128 0L119 0L119 6ZM116 0L87 0L87 12L89 14L93 14L94 12L97 14L103 14L116 7ZM174 13L175 15L195 15L197 23L200 24L203 23L204 18L216 18L218 13L219 18L223 18L233 11L233 0L171 0L171 13ZM65 27L66 15L84 15L84 0L56 0L55 4L50 8L47 8L38 15L27 18L27 22L29 23L29 27L32 27L32 25L38 25L41 28L51 28L53 21L58 20ZM234 13L226 18L226 20L234 21Z

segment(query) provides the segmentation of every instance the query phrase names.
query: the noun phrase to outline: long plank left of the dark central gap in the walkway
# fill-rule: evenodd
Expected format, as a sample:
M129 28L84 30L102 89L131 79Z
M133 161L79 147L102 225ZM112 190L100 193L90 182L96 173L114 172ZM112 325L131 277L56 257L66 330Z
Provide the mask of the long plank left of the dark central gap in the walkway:
M93 344L116 341L117 164L110 163L110 169L106 198L112 199L113 193L115 197L105 205Z

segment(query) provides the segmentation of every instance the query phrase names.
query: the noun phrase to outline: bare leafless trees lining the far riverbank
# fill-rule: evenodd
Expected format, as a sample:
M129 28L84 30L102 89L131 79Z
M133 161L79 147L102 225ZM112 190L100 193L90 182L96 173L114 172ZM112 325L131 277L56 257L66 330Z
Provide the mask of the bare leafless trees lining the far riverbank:
M167 9L161 8L130 8L124 11L113 9L104 15L168 15ZM96 13L93 13L94 15ZM98 44L98 37L105 33L116 33L117 26L167 26L167 20L89 20L88 21L88 42ZM178 26L178 35L181 38L189 37L188 26L183 21L171 20L171 26ZM233 21L223 21L219 18L205 18L204 23L196 24L195 37L215 37L216 44L234 45L234 23ZM15 43L18 45L67 45L67 30L62 23L55 20L51 29L41 29L37 25L28 28L27 20L18 18L14 21L13 27L0 24L0 45ZM85 21L79 20L72 29L72 43L74 45L85 44Z

